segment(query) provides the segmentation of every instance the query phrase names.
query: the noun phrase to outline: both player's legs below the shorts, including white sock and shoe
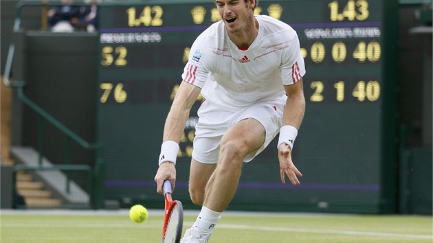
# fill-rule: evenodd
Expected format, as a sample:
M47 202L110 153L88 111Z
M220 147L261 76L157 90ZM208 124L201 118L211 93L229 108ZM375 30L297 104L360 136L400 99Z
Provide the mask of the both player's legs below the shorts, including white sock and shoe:
M243 119L227 130L221 139L216 167L192 159L190 194L193 202L204 203L197 220L186 230L181 242L208 242L221 212L232 200L238 187L243 159L265 142L265 128L256 119ZM213 171L213 173L211 172ZM202 173L202 174L201 174ZM206 189L203 191L203 185ZM203 194L204 192L204 194Z

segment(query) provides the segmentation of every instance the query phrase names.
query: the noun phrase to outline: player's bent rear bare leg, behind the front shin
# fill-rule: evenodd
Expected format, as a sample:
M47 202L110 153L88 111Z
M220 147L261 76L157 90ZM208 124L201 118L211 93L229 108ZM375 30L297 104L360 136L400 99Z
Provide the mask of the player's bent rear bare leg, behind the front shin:
M192 203L195 205L203 205L206 184L208 184L215 167L216 164L199 163L195 159L191 160L189 191Z

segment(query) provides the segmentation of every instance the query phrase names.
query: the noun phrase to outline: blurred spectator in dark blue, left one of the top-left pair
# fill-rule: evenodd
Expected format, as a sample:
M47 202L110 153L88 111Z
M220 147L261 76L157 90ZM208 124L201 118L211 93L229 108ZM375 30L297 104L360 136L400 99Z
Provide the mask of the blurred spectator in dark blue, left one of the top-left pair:
M63 5L48 11L48 23L53 32L73 32L80 24L80 7L72 5L74 0L61 0Z

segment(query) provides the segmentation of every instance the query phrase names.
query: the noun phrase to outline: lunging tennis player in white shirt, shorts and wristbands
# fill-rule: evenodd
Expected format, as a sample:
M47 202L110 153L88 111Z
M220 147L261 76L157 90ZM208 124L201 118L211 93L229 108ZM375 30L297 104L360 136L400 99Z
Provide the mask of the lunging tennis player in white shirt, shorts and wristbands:
M291 160L304 117L304 60L296 32L269 16L254 15L258 0L214 0L222 20L198 36L168 113L155 176L176 180L176 157L190 108L199 108L189 191L203 205L181 242L208 242L232 200L243 163L252 161L280 132L280 178L302 176Z

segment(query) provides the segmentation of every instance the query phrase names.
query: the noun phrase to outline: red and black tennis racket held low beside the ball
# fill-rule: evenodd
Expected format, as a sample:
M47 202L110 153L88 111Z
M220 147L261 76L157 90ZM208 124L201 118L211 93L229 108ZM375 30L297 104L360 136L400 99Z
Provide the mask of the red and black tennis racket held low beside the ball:
M182 203L171 198L171 182L166 180L163 185L165 207L164 226L162 227L162 243L179 243L184 224L184 209Z

